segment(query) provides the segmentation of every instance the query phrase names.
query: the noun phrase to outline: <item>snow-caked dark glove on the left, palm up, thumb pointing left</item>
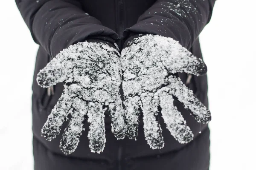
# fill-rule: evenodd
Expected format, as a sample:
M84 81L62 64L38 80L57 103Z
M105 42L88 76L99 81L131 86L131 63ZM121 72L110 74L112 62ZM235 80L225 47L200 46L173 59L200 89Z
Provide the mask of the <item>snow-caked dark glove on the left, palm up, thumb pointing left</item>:
M100 153L106 142L104 113L108 109L112 131L117 139L123 139L121 78L120 54L114 45L86 41L61 51L37 77L38 84L44 88L64 82L64 91L42 128L42 136L49 141L54 139L70 114L71 119L60 142L61 150L68 155L76 150L87 115L90 150Z

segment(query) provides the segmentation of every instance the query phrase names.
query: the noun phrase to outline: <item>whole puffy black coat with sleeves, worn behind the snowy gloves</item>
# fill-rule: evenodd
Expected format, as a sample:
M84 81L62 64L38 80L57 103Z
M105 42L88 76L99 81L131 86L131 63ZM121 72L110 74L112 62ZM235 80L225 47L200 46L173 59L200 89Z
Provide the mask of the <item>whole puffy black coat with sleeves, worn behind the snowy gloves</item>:
M207 125L196 122L179 102L176 105L195 135L194 141L189 144L175 141L164 124L162 127L166 144L161 150L149 148L142 125L137 141L117 141L111 133L110 118L106 116L107 143L103 153L90 152L88 125L85 124L86 130L76 151L70 156L64 156L59 149L61 135L52 142L41 137L41 128L61 96L63 85L56 85L55 95L48 96L47 89L40 88L35 79L39 70L62 49L76 42L98 37L116 41L122 48L123 42L131 35L159 34L178 40L195 56L202 57L198 35L210 20L215 0L15 1L33 39L40 45L32 85L35 170L208 169L209 129ZM180 74L180 78L186 82L187 75ZM207 76L192 77L188 86L208 106Z

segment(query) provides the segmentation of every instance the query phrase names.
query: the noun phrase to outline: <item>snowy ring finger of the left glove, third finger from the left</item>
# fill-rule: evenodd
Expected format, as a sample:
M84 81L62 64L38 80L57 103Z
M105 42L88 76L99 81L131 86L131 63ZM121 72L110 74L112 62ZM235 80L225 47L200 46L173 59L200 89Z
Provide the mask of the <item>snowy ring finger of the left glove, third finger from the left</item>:
M101 153L106 143L105 136L105 110L99 103L90 102L88 105L88 122L90 123L88 139L89 147L93 153Z

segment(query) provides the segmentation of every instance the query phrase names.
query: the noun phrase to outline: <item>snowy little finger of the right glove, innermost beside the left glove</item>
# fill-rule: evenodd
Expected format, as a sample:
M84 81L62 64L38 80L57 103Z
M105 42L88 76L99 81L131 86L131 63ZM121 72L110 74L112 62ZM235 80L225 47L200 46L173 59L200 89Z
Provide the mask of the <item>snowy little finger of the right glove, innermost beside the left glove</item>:
M128 97L124 101L125 122L127 124L126 136L129 139L136 139L138 136L138 125L140 116L140 97Z

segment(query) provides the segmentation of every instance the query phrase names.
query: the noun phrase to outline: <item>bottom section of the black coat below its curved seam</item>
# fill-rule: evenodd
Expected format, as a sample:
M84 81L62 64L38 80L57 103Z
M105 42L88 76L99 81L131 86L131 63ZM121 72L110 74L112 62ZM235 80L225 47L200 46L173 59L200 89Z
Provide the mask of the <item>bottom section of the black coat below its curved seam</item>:
M209 170L209 142L207 128L198 138L179 150L151 156L122 155L120 159L102 160L66 157L51 152L34 137L34 167L35 170Z

